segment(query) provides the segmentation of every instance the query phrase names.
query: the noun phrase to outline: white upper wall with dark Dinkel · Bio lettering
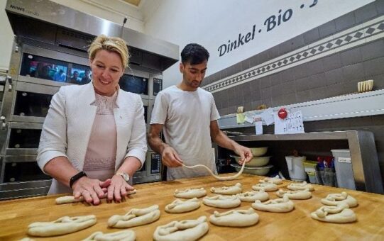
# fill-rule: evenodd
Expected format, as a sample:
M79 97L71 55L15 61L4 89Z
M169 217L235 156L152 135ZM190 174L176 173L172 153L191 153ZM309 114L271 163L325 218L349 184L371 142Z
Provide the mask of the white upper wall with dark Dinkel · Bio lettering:
M180 45L199 43L207 48L211 57L207 76L278 45L290 38L349 13L373 0L163 0L158 10L146 19L145 33ZM304 4L303 8L300 6ZM267 32L264 22L272 15L278 16L292 9L291 18ZM287 15L288 16L288 15ZM222 44L238 40L256 25L253 40L219 57ZM258 33L258 30L261 32ZM164 72L164 86L180 82L177 65Z

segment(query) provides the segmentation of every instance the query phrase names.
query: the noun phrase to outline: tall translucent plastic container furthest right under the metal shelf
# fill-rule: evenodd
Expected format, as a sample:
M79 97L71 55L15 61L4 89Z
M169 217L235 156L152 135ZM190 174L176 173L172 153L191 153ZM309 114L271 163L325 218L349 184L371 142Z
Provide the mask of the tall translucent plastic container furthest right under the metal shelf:
M334 156L337 184L344 189L356 190L351 152L348 149L334 149L331 152Z

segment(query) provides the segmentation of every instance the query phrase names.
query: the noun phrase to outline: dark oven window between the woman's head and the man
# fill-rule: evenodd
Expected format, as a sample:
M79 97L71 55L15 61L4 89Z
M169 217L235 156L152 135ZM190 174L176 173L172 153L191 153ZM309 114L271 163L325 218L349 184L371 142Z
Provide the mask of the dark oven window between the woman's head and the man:
M119 82L120 88L135 94L148 95L148 78L123 74Z

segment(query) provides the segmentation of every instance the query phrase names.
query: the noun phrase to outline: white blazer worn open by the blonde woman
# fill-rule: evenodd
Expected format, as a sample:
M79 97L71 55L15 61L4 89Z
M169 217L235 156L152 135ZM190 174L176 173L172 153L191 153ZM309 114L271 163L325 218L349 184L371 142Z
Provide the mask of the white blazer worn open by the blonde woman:
M92 82L82 86L62 86L53 96L45 117L38 147L38 165L55 157L67 157L78 171L82 171L97 106ZM143 101L138 94L119 89L114 108L117 132L115 171L126 157L136 157L143 164L146 160L146 123ZM56 184L55 184L56 182ZM57 181L53 179L53 186ZM51 186L52 188L52 186Z

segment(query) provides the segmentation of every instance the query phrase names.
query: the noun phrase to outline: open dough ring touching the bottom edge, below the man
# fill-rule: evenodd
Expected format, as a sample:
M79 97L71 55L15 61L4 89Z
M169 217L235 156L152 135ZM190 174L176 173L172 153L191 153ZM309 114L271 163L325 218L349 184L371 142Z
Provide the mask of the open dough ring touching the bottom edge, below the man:
M197 219L172 221L166 225L158 226L153 233L156 241L192 241L198 240L206 232L209 226L207 217L201 216Z

